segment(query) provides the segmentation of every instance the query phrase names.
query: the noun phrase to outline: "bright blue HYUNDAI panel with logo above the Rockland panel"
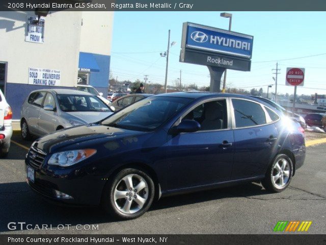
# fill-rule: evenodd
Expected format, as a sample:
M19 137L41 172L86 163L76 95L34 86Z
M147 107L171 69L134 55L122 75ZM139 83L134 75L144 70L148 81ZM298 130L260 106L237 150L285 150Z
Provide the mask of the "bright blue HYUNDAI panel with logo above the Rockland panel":
M251 59L253 36L187 23L185 47Z

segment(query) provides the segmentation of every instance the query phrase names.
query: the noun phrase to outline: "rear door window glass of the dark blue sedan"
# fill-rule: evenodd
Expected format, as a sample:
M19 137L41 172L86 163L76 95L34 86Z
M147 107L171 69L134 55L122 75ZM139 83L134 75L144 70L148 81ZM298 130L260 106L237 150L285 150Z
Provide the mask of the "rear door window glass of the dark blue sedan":
M237 128L266 124L266 115L260 104L232 99L235 126Z

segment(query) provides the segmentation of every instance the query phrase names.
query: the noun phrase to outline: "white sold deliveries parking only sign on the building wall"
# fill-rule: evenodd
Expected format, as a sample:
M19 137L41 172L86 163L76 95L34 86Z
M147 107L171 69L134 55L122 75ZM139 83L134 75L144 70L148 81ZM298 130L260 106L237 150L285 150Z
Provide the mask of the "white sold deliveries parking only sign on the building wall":
M56 69L29 68L29 84L60 86L61 71Z

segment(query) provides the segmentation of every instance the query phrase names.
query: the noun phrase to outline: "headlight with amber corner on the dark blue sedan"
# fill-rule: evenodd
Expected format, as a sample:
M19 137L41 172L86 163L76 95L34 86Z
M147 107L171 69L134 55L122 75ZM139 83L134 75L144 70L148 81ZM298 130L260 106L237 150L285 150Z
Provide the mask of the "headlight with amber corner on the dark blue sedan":
M48 160L49 165L59 165L62 167L71 166L83 161L96 153L95 149L74 150L66 152L58 152L53 154Z

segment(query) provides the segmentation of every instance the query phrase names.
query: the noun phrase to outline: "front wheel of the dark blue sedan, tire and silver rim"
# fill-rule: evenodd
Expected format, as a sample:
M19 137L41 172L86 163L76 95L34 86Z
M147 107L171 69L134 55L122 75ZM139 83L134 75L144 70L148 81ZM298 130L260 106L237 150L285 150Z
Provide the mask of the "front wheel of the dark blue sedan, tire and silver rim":
M150 208L154 192L154 182L146 171L126 168L106 183L102 205L105 212L115 218L138 218Z

